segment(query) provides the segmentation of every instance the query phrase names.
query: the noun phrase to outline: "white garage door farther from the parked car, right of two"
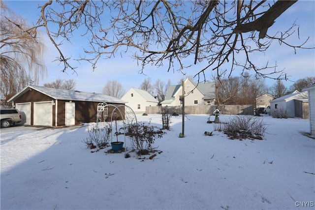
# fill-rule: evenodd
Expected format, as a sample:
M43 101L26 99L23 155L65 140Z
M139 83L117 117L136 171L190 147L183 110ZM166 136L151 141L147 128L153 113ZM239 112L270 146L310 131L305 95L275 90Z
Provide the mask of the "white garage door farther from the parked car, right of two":
M53 102L34 102L34 125L53 126Z

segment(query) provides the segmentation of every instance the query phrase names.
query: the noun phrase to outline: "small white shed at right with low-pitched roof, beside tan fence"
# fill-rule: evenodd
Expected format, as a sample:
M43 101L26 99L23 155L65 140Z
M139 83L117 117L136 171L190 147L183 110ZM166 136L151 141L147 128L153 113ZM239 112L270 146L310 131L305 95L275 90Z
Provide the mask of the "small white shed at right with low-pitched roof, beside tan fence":
M271 115L274 117L275 113L285 112L286 117L295 117L294 100L302 100L308 98L308 92L297 92L293 94L284 95L280 98L270 101Z

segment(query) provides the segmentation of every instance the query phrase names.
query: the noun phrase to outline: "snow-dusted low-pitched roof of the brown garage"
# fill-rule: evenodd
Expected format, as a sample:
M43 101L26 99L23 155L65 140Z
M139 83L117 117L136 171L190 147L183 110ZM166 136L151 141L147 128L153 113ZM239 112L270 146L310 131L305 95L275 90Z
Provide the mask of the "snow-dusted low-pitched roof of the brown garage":
M74 101L93 101L93 102L111 102L111 103L126 103L119 98L115 98L109 95L91 93L91 92L81 92L77 90L63 90L55 88L46 88L40 86L27 86L20 92L16 93L8 102L14 101L16 98L20 97L22 94L29 90L36 90L51 98L57 100L74 100Z

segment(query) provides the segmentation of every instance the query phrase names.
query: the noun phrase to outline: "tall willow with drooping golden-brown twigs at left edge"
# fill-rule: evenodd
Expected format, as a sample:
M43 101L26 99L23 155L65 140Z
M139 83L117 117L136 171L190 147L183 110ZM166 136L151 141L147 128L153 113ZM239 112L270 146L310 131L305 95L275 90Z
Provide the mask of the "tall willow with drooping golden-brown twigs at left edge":
M36 28L10 11L0 1L0 68L1 106L18 91L31 83L38 83L38 77L46 74L42 54L44 42Z

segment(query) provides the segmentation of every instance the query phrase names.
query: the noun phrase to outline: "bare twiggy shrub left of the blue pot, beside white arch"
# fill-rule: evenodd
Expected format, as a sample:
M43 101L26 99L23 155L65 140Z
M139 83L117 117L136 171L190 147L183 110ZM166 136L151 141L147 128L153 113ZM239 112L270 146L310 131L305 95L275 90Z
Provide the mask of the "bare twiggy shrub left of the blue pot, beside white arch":
M111 132L112 127L110 124L105 124L104 127L99 127L99 124L91 123L88 127L89 137L83 140L83 143L90 149L96 148L96 145L99 149L106 148L109 146Z

